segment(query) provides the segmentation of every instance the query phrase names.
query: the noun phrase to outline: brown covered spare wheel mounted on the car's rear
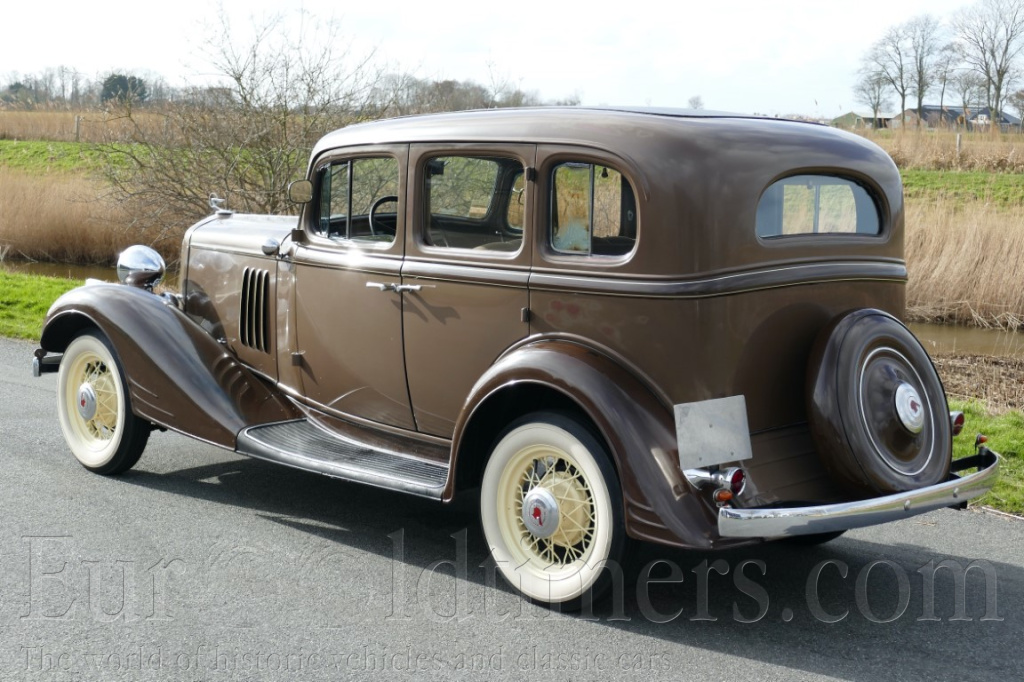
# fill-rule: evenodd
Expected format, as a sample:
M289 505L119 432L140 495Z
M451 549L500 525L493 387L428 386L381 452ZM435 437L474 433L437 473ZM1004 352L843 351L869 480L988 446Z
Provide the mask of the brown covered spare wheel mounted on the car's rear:
M808 418L826 469L847 489L888 495L946 480L952 434L928 353L898 319L834 319L808 360Z

